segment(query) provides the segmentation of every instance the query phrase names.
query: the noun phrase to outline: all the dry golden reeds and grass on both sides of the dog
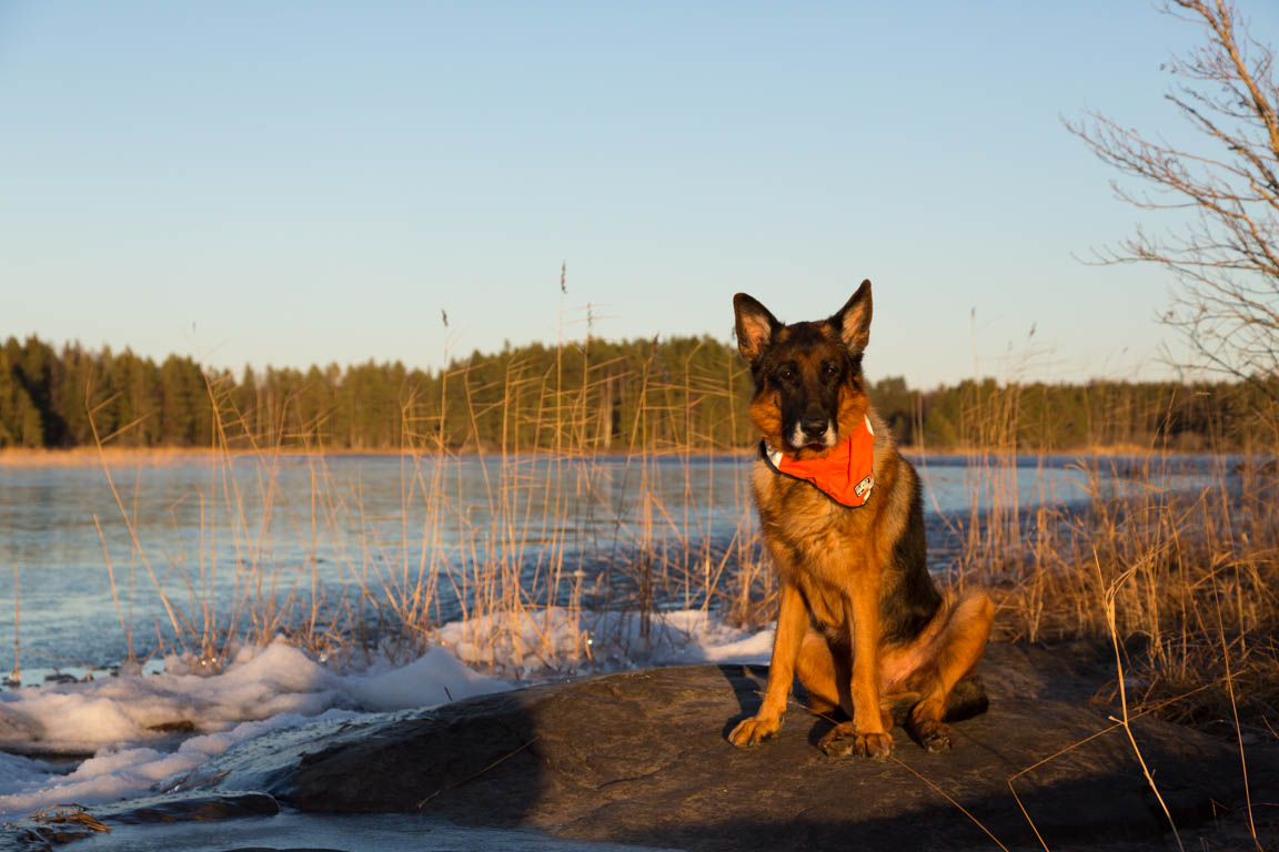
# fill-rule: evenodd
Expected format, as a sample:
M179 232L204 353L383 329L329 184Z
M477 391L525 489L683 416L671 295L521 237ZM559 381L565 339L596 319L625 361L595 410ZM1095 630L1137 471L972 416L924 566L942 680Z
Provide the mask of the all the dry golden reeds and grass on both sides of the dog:
M663 604L714 609L744 626L767 623L776 588L749 520L746 476L737 471L729 485L742 507L734 524L709 529L706 510L721 494L714 480L693 470L697 453L741 448L651 447L646 436L654 423L692 423L688 410L673 406L641 407L634 423L623 424L625 445L605 448L595 438L614 427L593 382L602 381L596 377L604 370L596 368L606 364L591 365L583 349L561 346L558 364L570 358L582 359L582 379L573 387L561 383L560 369L533 374L513 363L496 378L489 373L485 390L496 382L501 393L485 410L475 402L481 396L477 365L446 377L432 418L417 414L421 400L405 399L394 534L334 474L322 420L286 428L285 410L265 433L255 432L249 423L261 418L235 407L225 379L210 381L217 437L202 456L214 475L194 496L198 547L165 551L165 543L136 540L130 554L168 613L168 623L156 626L157 643L214 666L235 643L265 643L280 634L317 653L370 650L389 639L412 651L435 641L441 621L451 616L476 625L469 639L480 645L515 648L549 669L569 669L590 662L592 649L585 632L569 645L551 641L550 605L558 607L556 618L570 620L601 608L632 611L643 635ZM718 382L732 401L737 378L679 374L668 365L660 376L646 367L628 381L659 391L641 399L661 399L664 387L680 391L673 397L693 399L715 393ZM463 459L445 441L445 419L455 423L458 415L445 410L448 383L466 388L467 420L496 415L504 427L499 446L468 457L472 465L482 461L478 493L464 487ZM530 399L537 400L532 409L519 404ZM735 416L733 405L728 416ZM1092 488L1086 507L1054 506L1041 493L1033 497L1042 505L1027 511L1016 479L1007 475L1018 452L1016 386L985 405L968 416L980 427L967 437L984 448L967 453L973 508L950 519L962 547L945 582L991 586L999 600L996 637L1003 640L1109 641L1106 602L1113 599L1113 635L1126 657L1127 700L1136 711L1192 692L1160 714L1229 733L1228 720L1238 710L1250 733L1273 736L1270 728L1279 728L1279 648L1273 639L1279 626L1279 498L1273 471L1234 474L1223 464L1207 487L1181 493L1159 487L1170 464L1163 447L1126 459L1087 453L1078 461ZM551 448L517 452L506 434L519 432L550 436L542 446ZM139 457L109 446L98 450L109 478ZM148 464L162 464L191 453L143 455ZM5 456L17 464L54 459ZM302 501L280 485L285 461L293 469L304 465L310 475ZM659 464L680 471L680 493L659 487ZM1105 493L1104 483L1113 480L1129 487L1119 496ZM633 501L633 512L619 510L618 489ZM118 520L133 530L137 494L132 511L128 494L118 494ZM304 565L275 558L283 544L272 539L275 521L292 530L292 543L307 554ZM611 529L593 561L574 547L576 531L587 522ZM221 551L217 542L224 542ZM321 559L331 563L324 576ZM113 588L114 579L113 571ZM125 598L130 595L132 582ZM116 609L124 625L119 599ZM532 646L519 628L528 620L544 625Z

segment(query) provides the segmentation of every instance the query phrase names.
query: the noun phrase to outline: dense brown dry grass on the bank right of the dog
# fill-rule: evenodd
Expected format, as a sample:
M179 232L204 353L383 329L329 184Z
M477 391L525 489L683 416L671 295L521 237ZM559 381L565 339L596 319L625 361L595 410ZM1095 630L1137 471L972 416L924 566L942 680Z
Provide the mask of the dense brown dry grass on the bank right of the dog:
M1146 479L1157 482L1156 471ZM1024 534L1014 538L1017 530ZM1118 640L1127 697L1137 709L1193 692L1160 715L1233 737L1238 711L1252 733L1273 736L1269 726L1279 719L1273 478L1221 470L1197 493L1155 487L1122 497L1094 493L1085 511L1041 507L1033 519L985 526L966 558L973 551L980 561L967 574L985 574L993 586L1000 639ZM1115 700L1118 685L1101 697Z

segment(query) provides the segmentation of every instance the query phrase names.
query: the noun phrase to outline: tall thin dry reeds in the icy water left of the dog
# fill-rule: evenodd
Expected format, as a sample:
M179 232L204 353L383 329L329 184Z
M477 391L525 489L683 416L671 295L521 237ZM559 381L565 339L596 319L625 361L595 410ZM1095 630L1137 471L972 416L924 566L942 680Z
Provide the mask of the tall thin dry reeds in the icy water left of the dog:
M596 383L615 383L616 376L596 378L602 374L596 368L609 365L586 363L583 349L563 346L559 359L568 358L583 359L577 370L581 384L565 387L559 370L533 374L514 363L496 379L501 388L496 411L492 405L481 410L475 401L489 396L478 391L492 390L476 384L478 365L449 373L434 407L413 397L402 401L404 445L394 453L400 492L394 534L388 519L375 515L363 493L331 468L343 453L329 450L322 420L289 425L295 418L285 406L276 423L255 430L249 424L261 418L237 407L226 379L207 382L216 419L215 443L208 448L152 453L114 450L110 441L119 436L98 441L91 452L115 494L115 521L127 528L132 542L130 584L122 595L116 580L123 577L123 566L113 565L104 539L122 627L130 632L124 609L132 612L134 563L164 607L165 618L155 625L156 645L206 667L221 664L238 643L267 643L278 635L316 653L371 651L388 641L413 653L436 640L441 621L459 618L476 630L483 626L485 635L469 637L476 643L491 649L514 646L537 655L545 668L558 669L588 662L592 651L585 632L569 648L551 641L556 625L550 607L560 621L585 618L588 607L632 611L641 621L641 635L647 634L660 602L714 608L743 623L766 618L774 580L760 559L746 512L733 529L711 529L702 510L716 499L716 480L703 482L693 471L694 452L703 451L654 446L646 439L655 423L686 418L688 411L673 405L641 406L634 423L623 424L627 446L609 447L595 438L613 428L606 424L610 411L593 401L600 396ZM671 382L679 383L680 399L689 399L693 387L703 397L716 392L707 377L688 370L659 379L645 369L629 378L655 391L641 393L642 399L661 399ZM723 387L732 387L733 379L724 377ZM448 439L445 423L455 428L458 413L445 405L450 383L464 387L464 415L472 425L481 416L501 418L500 446L483 455L451 447L455 441ZM527 399L537 400L532 415L530 406L519 405ZM427 407L436 414L422 416L420 411ZM517 451L508 446L508 430L550 439ZM550 450L541 448L547 443ZM83 452L6 453L5 459L29 465L90 460ZM142 540L132 469L188 461L211 471L189 496L200 506L198 543L183 543L177 521L170 540ZM281 484L285 471L295 475L299 465L310 476L301 499L297 489ZM480 471L478 492L464 482L463 465ZM666 471L665 487L659 465ZM683 479L680 493L670 492L671 469ZM719 487L724 487L721 480ZM741 471L729 487L744 507L747 485ZM615 499L619 489L625 491L627 507ZM610 531L593 554L574 547L576 533L586 522ZM281 526L289 530L289 542L279 540ZM286 545L306 553L304 565L275 557ZM590 563L587 556L593 556ZM327 563L324 571L321 562ZM533 646L522 630L530 618L545 622L545 637Z

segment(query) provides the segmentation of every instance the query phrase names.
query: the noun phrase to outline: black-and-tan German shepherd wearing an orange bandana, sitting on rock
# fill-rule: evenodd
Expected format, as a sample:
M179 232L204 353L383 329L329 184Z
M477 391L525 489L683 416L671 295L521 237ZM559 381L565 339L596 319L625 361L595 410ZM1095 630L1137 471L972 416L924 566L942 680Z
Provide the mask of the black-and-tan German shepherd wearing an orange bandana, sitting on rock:
M744 293L733 308L764 438L751 483L781 603L764 703L729 740L753 746L776 733L798 676L815 713L848 714L822 737L828 755L888 757L902 703L913 705L911 736L949 750L943 719L986 646L994 607L980 590L944 597L929 575L920 478L862 378L871 282L817 322L781 324Z

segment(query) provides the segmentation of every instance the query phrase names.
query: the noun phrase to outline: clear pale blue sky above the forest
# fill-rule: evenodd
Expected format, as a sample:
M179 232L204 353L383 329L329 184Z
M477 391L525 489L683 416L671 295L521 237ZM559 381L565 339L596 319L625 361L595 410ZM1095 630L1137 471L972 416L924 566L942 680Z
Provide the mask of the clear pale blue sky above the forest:
M872 377L1161 377L1166 278L1072 259L1140 213L1060 116L1175 137L1195 38L1146 0L0 1L0 337L426 367L870 277Z

